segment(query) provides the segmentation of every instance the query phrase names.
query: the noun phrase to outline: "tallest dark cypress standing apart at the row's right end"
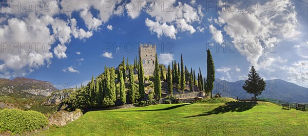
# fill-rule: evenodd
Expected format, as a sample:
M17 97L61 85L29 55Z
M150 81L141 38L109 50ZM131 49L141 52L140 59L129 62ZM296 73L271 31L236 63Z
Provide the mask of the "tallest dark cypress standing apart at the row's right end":
M212 97L212 90L214 88L214 81L215 81L215 66L213 58L211 57L209 49L207 52L207 77L206 77L206 92L210 92L210 97Z

